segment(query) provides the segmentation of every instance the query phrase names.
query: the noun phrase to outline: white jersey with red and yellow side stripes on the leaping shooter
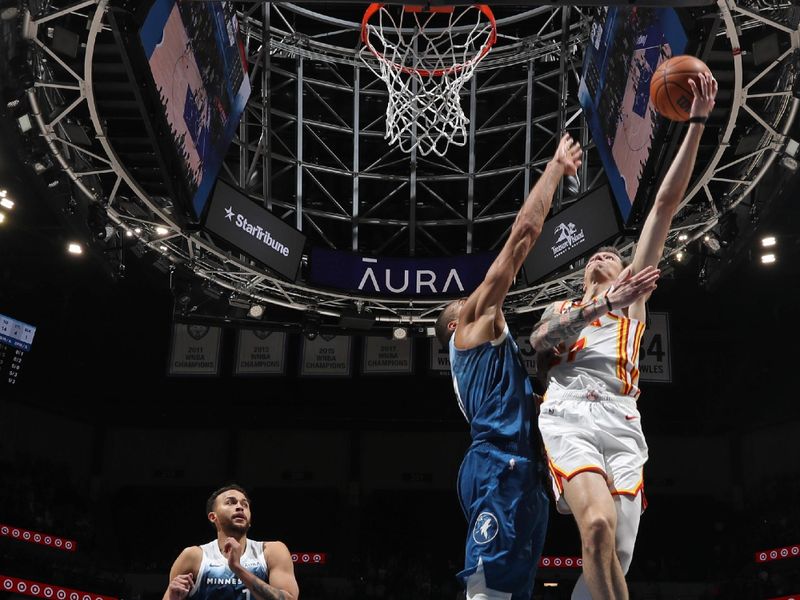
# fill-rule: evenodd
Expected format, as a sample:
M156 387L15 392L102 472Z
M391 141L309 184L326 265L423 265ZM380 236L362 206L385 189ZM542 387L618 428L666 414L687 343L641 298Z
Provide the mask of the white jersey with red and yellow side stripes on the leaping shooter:
M566 301L559 311L564 313L578 306L579 302ZM643 333L644 323L616 311L606 313L584 327L569 348L563 343L557 348L550 366L550 382L557 384L556 389L575 388L578 380L588 377L609 394L638 398L639 344Z

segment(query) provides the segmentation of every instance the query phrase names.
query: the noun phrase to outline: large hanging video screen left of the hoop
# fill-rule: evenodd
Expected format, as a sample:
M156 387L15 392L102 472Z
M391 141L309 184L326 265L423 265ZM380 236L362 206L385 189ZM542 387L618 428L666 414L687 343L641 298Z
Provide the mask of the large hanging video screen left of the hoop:
M139 31L199 219L250 97L231 2L156 0Z

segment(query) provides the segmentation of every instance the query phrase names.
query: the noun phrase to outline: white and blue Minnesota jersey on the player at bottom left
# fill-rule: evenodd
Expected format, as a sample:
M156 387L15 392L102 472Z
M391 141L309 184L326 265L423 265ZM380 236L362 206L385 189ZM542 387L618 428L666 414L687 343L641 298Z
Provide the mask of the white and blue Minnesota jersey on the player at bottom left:
M189 597L192 600L249 600L250 590L228 567L228 559L220 552L217 540L200 548L203 549L203 561ZM240 562L256 577L269 582L263 542L247 540Z

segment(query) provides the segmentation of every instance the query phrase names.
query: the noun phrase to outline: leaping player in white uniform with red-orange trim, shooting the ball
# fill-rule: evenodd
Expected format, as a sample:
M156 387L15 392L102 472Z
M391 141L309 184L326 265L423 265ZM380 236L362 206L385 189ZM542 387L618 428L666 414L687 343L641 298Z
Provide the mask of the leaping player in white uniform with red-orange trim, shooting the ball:
M714 108L710 74L694 92L686 137L656 194L631 265L613 248L587 262L580 301L549 306L531 334L552 353L539 429L548 454L557 506L571 512L581 534L583 574L573 600L625 600L625 573L642 511L647 444L636 399L645 301L669 225L694 169L703 124ZM636 285L630 285L639 278Z

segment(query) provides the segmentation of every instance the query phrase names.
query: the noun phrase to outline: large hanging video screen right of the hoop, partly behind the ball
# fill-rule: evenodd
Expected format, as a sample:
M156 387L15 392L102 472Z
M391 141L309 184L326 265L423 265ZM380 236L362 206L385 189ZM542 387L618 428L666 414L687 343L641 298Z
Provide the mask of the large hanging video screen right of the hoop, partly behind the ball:
M649 166L659 118L650 79L683 54L686 31L671 8L603 8L592 23L578 98L624 222Z

